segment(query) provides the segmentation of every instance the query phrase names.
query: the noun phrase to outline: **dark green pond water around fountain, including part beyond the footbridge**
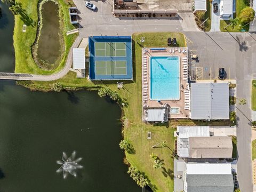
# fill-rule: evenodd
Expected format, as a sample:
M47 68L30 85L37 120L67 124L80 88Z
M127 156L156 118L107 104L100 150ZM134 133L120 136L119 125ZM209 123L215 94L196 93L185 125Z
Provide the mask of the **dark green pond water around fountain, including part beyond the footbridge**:
M14 20L0 5L7 17L0 20L0 33L10 32L0 35L9 47L0 50L6 57L0 67L12 71ZM123 164L120 117L116 103L97 92L31 92L0 80L0 191L141 191ZM83 169L63 179L56 161L74 150Z

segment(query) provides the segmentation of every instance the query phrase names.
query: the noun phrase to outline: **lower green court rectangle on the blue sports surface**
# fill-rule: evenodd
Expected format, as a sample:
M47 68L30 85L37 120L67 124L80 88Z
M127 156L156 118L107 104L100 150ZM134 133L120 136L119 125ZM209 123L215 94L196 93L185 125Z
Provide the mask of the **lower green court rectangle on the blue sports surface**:
M96 75L126 75L126 61L95 61Z

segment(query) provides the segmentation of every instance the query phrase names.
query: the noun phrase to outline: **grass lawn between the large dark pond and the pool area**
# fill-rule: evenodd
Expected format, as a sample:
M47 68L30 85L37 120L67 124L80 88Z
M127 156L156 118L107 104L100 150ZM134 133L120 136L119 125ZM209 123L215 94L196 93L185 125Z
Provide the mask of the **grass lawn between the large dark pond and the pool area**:
M171 150L165 148L151 148L161 141L167 141L168 147L174 148L173 129L168 124L149 125L142 123L142 100L141 100L141 46L140 39L145 37L145 47L166 47L167 37L176 37L177 43L185 47L185 39L181 33L138 33L133 38L133 79L134 81L123 81L125 89L118 90L116 81L87 81L85 78L76 78L74 72L69 72L65 77L53 82L19 82L32 89L49 90L55 82L61 83L65 87L81 87L84 89L99 89L100 87L110 87L116 90L128 105L124 107L124 138L130 140L135 154L126 153L127 161L137 166L144 172L149 180L150 187L154 191L173 191L173 158ZM139 43L137 43L139 42ZM87 66L86 66L87 67ZM151 140L147 139L147 132L151 131ZM150 154L155 153L164 161L164 169L154 170ZM128 170L128 168L127 168Z

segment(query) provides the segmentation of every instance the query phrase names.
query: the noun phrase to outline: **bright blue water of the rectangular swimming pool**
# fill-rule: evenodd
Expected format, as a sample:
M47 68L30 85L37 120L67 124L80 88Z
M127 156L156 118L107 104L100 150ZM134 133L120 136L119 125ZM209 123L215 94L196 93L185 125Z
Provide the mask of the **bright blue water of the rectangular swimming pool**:
M179 57L150 58L150 99L180 99Z

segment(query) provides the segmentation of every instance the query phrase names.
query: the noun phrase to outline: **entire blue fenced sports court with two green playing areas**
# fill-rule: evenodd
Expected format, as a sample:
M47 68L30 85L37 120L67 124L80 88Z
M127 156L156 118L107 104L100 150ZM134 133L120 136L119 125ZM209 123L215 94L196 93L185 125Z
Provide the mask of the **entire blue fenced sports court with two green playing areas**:
M89 37L90 79L132 79L131 37Z

